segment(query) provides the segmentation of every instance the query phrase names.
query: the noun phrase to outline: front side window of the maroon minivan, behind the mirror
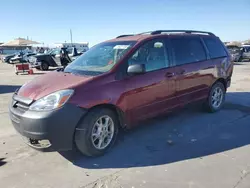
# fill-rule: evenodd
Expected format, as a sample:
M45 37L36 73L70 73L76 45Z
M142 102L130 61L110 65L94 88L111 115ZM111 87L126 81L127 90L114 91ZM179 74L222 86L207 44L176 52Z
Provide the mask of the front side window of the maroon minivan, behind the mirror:
M141 46L128 60L128 65L145 64L146 72L169 67L163 40L152 40Z

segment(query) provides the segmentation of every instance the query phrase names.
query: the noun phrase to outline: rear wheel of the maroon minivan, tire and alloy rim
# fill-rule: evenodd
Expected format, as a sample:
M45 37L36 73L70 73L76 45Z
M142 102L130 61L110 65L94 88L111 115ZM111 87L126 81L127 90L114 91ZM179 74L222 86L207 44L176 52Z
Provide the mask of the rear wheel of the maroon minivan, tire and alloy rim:
M218 99L214 95L216 91L221 91L221 97L218 96L218 98L220 98L220 102L218 102L218 103L216 103L215 100L213 100L213 98ZM207 99L207 101L205 103L206 110L208 112L210 112L210 113L214 113L214 112L219 111L222 108L222 106L223 106L223 104L225 102L225 94L226 94L225 86L221 82L216 82L212 86L212 88L211 88L211 90L209 92L208 99ZM215 103L218 104L218 106L215 105Z

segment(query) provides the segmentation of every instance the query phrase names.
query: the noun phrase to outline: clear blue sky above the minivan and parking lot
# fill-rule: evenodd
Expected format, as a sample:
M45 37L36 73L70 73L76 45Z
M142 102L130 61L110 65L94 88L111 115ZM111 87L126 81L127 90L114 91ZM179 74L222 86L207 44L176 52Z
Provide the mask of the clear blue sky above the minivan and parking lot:
M120 34L157 29L214 32L223 41L250 39L250 0L4 0L0 42L31 37L46 44L94 45Z

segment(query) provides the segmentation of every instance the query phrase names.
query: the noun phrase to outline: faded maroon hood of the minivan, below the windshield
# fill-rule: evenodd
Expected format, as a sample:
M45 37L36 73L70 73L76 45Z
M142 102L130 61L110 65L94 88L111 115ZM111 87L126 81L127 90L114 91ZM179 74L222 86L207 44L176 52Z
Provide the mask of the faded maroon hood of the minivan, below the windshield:
M50 72L46 75L36 77L24 84L18 91L18 95L38 100L53 92L74 88L79 84L92 80L92 76L77 76L64 72Z

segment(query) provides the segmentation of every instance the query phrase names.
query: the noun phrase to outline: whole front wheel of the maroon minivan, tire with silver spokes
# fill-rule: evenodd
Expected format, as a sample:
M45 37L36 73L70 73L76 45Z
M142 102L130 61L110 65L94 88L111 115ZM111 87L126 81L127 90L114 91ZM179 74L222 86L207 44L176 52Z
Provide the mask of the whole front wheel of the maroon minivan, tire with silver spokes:
M109 120L108 122L109 124L112 124L113 122L114 126L113 126L113 129L111 128L109 129L109 130L113 130L112 138L108 139L108 137L106 137L106 140L105 140L104 138L105 135L102 138L100 134L99 136L94 136L94 134L98 135L98 130L99 130L99 128L97 128L98 124L96 123L99 122L99 124L102 124L101 123L102 121L100 121L100 118L101 119L104 118L103 120L106 121L105 118L107 117L112 119L112 121ZM103 127L103 126L100 126L100 127ZM110 127L112 126L110 125ZM91 157L101 156L105 154L115 143L116 137L118 135L118 129L119 129L119 121L118 121L118 117L116 113L114 113L112 110L107 109L107 108L93 109L83 118L83 120L79 123L79 125L76 128L75 138L74 138L76 148L83 155L87 155ZM97 148L98 147L97 145L99 144L99 142L101 142L102 139L103 139L103 143L107 144L107 146L105 148ZM104 141L106 141L106 143Z

